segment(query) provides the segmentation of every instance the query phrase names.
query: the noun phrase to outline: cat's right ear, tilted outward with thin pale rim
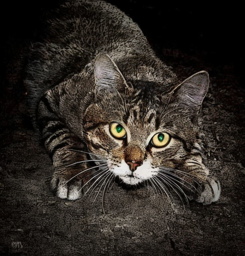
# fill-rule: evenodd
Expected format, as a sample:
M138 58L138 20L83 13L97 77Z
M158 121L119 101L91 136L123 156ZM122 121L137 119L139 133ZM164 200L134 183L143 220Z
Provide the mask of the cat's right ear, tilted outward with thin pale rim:
M208 72L200 71L185 79L176 86L172 93L174 99L193 109L199 109L208 91L209 76Z

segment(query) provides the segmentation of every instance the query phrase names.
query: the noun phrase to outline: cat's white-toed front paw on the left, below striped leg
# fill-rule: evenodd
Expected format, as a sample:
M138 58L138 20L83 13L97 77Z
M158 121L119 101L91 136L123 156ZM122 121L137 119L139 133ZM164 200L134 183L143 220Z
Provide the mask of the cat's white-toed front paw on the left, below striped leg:
M56 196L62 199L76 200L82 197L82 181L72 180L67 183L69 179L65 178L64 175L54 174L50 182L50 189Z

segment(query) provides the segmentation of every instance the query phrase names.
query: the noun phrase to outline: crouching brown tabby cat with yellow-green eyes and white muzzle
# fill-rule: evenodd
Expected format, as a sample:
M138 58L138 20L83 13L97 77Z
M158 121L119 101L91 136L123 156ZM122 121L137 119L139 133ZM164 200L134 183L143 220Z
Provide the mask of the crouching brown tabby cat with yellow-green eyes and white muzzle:
M85 185L106 188L117 177L169 199L217 201L220 183L196 141L208 73L179 82L138 25L104 1L64 2L46 16L24 82L55 166L51 190L76 200Z

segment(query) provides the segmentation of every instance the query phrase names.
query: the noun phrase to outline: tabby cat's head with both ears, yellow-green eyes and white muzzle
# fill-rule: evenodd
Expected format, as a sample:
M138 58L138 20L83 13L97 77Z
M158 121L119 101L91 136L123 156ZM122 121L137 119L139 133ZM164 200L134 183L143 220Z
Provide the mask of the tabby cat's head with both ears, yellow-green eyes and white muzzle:
M198 72L166 91L164 85L125 81L107 55L94 63L95 102L85 113L84 133L90 152L108 158L108 168L135 185L175 168L196 137L195 117L209 84Z

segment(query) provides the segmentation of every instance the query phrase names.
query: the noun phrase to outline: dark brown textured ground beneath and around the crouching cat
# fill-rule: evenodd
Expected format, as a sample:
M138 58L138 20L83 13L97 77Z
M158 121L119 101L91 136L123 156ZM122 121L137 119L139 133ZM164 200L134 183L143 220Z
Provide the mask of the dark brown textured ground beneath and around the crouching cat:
M16 45L8 48L13 56L25 49ZM104 215L101 196L93 205L88 197L54 197L51 161L26 114L24 60L15 57L1 81L0 255L245 255L245 92L239 78L232 65L204 62L198 51L153 46L182 78L210 73L199 126L205 163L221 182L220 200L191 202L184 210L176 197L172 209L153 190L115 184Z

